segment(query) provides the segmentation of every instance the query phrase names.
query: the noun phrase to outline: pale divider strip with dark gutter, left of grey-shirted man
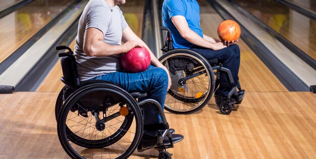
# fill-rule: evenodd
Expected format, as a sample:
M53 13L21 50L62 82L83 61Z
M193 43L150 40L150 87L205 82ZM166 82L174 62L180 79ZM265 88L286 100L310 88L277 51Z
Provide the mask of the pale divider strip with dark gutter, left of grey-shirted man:
M7 86L7 88L13 86L16 91L30 91L36 81L38 81L38 76L42 75L38 70L47 69L47 66L41 64L47 63L46 65L50 65L46 61L49 59L48 57L53 57L54 59L54 56L57 56L57 54L48 54L51 54L50 51L55 50L54 47L60 42L61 37L68 36L65 30L70 31L71 26L76 26L75 23L78 21L87 3L87 1L81 1L78 7L74 6L54 27L47 31L14 64L1 74L0 88L2 86ZM31 83L28 83L30 81Z

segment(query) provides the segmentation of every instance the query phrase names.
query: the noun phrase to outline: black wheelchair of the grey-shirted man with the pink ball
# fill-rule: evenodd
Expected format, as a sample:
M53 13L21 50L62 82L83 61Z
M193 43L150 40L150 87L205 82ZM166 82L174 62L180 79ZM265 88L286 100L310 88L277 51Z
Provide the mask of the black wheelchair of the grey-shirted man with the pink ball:
M172 134L160 103L153 99L137 102L146 93L129 93L108 81L80 82L73 51L59 54L65 83L55 107L60 143L72 158L127 158L139 145L143 134L142 108L154 103L160 111L156 149L159 158L171 158ZM169 137L171 144L164 145Z

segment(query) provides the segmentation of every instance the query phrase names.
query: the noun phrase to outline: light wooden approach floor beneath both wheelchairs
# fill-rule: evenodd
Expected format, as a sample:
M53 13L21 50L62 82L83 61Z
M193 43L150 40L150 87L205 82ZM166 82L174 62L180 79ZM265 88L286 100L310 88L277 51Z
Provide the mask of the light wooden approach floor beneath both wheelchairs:
M0 158L69 158L56 131L57 95L0 94ZM173 158L314 158L315 104L310 92L248 92L228 116L219 114L214 99L196 114L166 112L170 127L184 135L167 150ZM157 153L135 151L130 158Z

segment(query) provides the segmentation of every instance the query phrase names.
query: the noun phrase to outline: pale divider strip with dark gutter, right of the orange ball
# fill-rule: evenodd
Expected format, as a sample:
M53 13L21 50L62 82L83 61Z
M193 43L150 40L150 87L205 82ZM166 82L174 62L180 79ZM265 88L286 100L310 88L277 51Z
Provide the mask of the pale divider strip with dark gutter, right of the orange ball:
M249 19L243 18L243 15L230 7L226 1L207 0L207 2L213 6L223 19L232 19L240 24L242 39L247 42L258 58L264 62L289 91L309 91L309 87L316 84L314 80L314 77L316 77L315 70L267 33L266 30ZM255 29L257 31L254 31ZM276 45L278 45L278 48L275 47Z

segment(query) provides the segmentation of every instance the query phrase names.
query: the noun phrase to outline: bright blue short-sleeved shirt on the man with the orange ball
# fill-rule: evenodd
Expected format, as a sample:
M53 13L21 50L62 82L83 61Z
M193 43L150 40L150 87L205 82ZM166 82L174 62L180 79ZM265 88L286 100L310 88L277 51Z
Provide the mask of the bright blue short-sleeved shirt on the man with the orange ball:
M200 27L200 7L195 0L165 0L162 14L163 25L172 32L174 48L190 48L193 44L180 35L171 21L173 16L185 17L189 28L203 37Z

